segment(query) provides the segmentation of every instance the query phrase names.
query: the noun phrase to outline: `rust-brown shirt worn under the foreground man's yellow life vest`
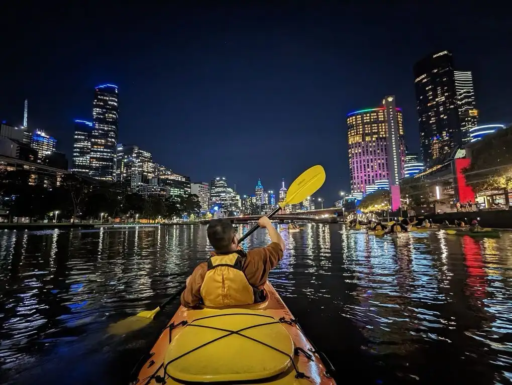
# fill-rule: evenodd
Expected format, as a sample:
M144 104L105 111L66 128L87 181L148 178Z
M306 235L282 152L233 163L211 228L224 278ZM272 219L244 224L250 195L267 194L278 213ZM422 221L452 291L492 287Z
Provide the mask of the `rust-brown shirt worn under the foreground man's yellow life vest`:
M262 288L268 278L268 272L283 258L283 250L277 242L266 247L254 248L247 252L242 271L252 286ZM208 270L207 262L200 263L190 275L187 287L181 293L181 304L194 307L201 302L201 285Z

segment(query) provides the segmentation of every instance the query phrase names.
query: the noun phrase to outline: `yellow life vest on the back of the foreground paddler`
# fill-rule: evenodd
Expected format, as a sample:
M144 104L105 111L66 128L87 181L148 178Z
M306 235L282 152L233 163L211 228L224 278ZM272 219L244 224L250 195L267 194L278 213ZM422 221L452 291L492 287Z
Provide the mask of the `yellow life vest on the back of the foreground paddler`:
M228 255L214 255L208 259L208 271L201 285L205 306L237 306L259 302L259 290L250 285L242 271L243 251Z

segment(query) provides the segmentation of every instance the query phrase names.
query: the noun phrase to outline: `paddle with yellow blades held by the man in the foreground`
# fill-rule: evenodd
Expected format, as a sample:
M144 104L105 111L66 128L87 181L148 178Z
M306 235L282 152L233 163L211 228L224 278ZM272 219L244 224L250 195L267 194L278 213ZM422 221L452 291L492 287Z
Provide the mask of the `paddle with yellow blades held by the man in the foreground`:
M277 214L281 209L283 209L287 205L296 205L297 203L302 202L308 196L313 195L325 182L325 171L322 166L313 166L306 171L304 171L298 178L294 180L291 184L288 192L286 193L286 198L284 202L280 202L279 206L276 207L270 214L267 215L267 218L271 218L275 214ZM257 224L252 229L250 229L243 237L238 240L238 243L242 243L249 235L258 230L260 226ZM162 302L157 308L154 310L144 310L136 315L132 315L129 318L116 322L109 326L108 332L110 334L122 335L129 333L134 330L142 329L144 326L149 324L155 315L167 306L169 303L173 302L177 297L179 297L183 290L185 290L186 285L180 287L172 296L170 296L167 300Z

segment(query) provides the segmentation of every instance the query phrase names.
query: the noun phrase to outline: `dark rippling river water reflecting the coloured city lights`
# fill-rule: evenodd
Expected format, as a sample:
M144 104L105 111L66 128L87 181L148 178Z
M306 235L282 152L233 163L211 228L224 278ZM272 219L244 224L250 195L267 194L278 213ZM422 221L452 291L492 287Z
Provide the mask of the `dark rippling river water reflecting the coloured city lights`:
M512 380L511 234L305 230L283 231L271 281L338 383ZM247 245L266 241L258 231ZM207 250L200 226L0 231L0 382L126 383L178 304L131 335L106 328L155 308Z

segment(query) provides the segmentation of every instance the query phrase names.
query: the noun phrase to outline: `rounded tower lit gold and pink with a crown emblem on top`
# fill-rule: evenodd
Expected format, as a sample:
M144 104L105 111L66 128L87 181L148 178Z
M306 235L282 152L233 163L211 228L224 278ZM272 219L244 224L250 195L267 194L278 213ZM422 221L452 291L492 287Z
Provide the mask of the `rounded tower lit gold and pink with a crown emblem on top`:
M402 177L406 155L402 110L395 107L394 98L391 101L386 98L383 107L350 112L347 126L352 194L365 194L367 186L370 186L368 191L374 191L377 180L390 180L390 163L392 180Z

